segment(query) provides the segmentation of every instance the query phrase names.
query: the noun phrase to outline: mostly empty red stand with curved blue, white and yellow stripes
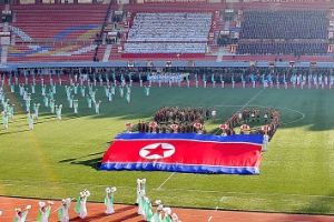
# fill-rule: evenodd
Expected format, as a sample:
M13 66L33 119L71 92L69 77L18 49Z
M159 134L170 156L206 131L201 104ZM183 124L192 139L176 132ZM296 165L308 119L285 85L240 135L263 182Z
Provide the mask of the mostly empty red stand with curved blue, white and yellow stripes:
M92 61L108 6L12 4L8 62ZM73 13L75 11L75 13ZM89 12L89 17L87 16ZM98 49L105 50L106 47Z

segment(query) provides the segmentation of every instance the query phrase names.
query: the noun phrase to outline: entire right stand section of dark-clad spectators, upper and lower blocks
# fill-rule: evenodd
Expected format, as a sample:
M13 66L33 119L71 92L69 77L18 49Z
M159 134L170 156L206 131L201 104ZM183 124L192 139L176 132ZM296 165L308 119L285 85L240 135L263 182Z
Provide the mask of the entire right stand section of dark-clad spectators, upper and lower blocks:
M245 11L237 54L325 54L327 11Z

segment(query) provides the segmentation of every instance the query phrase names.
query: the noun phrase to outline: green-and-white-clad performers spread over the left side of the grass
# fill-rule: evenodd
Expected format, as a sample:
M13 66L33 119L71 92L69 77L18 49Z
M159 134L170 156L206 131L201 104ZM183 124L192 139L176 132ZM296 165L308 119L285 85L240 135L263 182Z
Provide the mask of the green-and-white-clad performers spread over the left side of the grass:
M62 84L62 80L59 79L59 85ZM6 81L2 80L2 83ZM61 120L62 114L62 104L57 104L55 95L57 94L57 84L53 81L53 79L49 79L49 85L45 84L45 80L41 79L41 101L38 101L40 98L37 97L36 99L32 98L33 94L38 94L36 91L36 77L32 77L32 80L30 80L26 77L24 83L19 83L18 80L12 81L11 78L8 79L8 87L10 87L10 92L14 93L16 88L19 88L19 93L22 97L22 100L24 101L21 107L27 112L27 122L29 124L29 129L33 129L33 121L35 119L39 118L39 109L40 104L43 104L45 108L50 109L50 113L55 113L58 120ZM100 100L97 100L97 84L96 82L91 83L89 80L87 80L86 85L85 82L80 80L79 82L73 81L72 79L69 79L70 84L65 85L65 93L66 99L68 101L68 108L73 110L73 113L79 113L79 94L81 94L82 98L86 98L87 100L87 107L89 109L94 108L95 113L100 113ZM125 98L128 102L130 102L130 93L131 89L129 84L125 84L122 82L120 85L117 85L117 82L105 85L105 94L108 99L108 101L112 101L112 95L116 93L116 87L119 88L119 97ZM88 89L88 90L86 90ZM150 87L145 85L144 87L145 95L149 95ZM88 91L88 92L86 92ZM35 103L31 103L33 100L37 100ZM8 129L9 127L9 119L14 117L14 104L10 102L10 99L7 98L7 93L4 92L4 84L0 85L0 101L1 101L1 115L2 115L2 124L4 129ZM40 102L40 103L39 103Z

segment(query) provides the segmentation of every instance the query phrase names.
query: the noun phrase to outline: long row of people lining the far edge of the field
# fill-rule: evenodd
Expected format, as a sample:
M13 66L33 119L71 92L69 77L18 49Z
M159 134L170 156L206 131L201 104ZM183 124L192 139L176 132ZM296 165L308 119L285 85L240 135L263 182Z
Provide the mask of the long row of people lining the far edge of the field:
M43 68L43 69L19 69L18 71L3 72L8 78L17 79L19 75L69 75L75 81L91 81L102 84L102 82L150 82L151 83L174 83L181 81L191 82L225 82L225 83L256 83L271 85L285 84L287 82L296 85L308 84L311 88L324 88L330 85L332 89L334 75L332 69L315 69L291 67L267 67L259 68L250 65L248 68Z

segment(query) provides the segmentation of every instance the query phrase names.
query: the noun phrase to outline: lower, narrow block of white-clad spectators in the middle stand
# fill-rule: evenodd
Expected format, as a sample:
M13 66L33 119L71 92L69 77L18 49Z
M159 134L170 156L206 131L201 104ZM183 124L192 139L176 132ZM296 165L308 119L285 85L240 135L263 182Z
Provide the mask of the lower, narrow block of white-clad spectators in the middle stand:
M125 43L124 53L205 53L207 43Z

